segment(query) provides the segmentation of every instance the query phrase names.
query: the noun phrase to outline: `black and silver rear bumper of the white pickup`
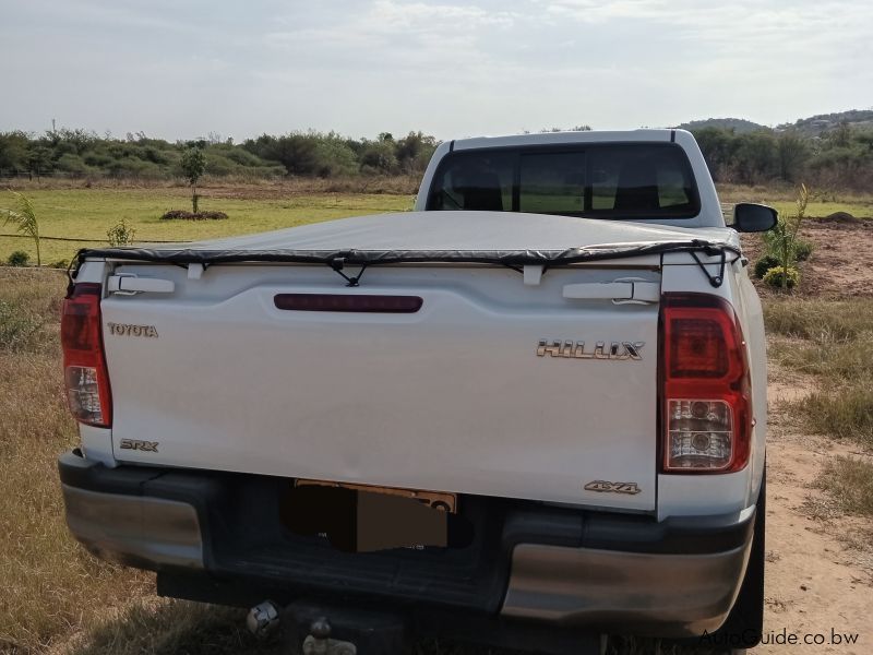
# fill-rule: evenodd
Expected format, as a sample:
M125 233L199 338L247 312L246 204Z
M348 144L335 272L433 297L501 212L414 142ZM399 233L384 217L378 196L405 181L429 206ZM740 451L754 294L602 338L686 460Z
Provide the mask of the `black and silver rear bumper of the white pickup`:
M284 531L275 498L287 480L110 469L76 453L59 468L68 524L86 548L157 571L168 595L231 605L378 599L531 628L693 636L729 614L754 524L754 508L658 523L465 497L477 532L468 547L342 553Z

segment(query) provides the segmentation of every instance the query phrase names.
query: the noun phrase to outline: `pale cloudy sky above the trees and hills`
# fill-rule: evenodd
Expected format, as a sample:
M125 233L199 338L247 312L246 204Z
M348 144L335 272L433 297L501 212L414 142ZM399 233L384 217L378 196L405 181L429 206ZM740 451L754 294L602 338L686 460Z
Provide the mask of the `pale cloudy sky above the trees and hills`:
M439 139L873 108L872 0L0 0L0 131Z

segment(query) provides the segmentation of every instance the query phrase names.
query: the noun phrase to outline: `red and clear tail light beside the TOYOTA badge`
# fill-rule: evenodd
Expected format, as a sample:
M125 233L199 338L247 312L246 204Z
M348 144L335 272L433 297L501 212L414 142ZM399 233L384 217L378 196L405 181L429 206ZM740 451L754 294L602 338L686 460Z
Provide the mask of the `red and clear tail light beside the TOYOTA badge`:
M70 412L81 422L112 425L112 396L103 350L99 284L79 283L63 301L61 345Z

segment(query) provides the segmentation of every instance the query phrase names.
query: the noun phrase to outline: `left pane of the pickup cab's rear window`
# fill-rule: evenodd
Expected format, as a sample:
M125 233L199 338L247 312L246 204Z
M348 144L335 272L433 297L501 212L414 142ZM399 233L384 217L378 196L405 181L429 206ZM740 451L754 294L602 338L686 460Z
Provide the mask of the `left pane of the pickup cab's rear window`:
M515 155L461 153L450 155L428 199L428 210L512 211Z

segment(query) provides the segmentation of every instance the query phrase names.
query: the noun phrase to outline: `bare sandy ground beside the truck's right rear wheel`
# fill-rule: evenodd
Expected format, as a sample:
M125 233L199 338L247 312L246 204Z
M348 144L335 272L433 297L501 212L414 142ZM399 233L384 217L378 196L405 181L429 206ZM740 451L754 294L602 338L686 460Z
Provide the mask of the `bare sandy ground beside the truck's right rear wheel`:
M827 499L811 488L827 457L870 455L851 444L804 434L800 421L780 409L784 401L801 398L812 384L770 369L765 641L784 631L800 641L762 644L756 655L873 652L873 522L828 516ZM859 633L858 642L836 643L832 630ZM824 641L803 645L805 635Z

